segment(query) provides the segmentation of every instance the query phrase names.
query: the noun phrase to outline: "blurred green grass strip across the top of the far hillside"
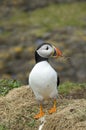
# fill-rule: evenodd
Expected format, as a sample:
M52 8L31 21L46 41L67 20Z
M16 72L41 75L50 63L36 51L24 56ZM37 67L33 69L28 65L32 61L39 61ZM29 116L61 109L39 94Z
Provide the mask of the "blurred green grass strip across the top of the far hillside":
M58 27L86 26L86 2L71 4L51 4L48 7L36 9L32 12L23 12L19 9L12 10L8 19L1 19L0 26L34 27L31 34L42 36L45 32ZM16 27L16 26L15 26ZM4 34L3 34L4 35Z

